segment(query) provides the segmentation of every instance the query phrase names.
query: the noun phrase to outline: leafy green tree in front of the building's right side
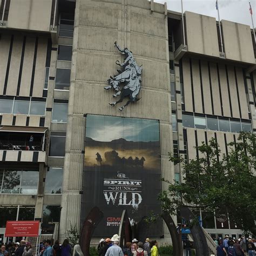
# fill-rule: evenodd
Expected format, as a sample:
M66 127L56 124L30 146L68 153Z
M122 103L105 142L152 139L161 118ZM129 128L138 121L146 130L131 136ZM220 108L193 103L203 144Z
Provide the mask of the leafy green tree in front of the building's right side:
M184 183L169 184L159 194L163 211L177 214L182 206L203 210L233 221L241 230L256 234L256 147L255 135L241 132L237 142L221 152L214 138L195 149L197 159L189 163L182 157L170 155L174 165L183 166ZM203 221L204 223L204 221Z

